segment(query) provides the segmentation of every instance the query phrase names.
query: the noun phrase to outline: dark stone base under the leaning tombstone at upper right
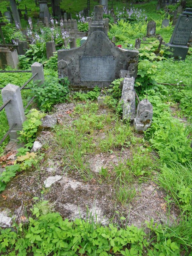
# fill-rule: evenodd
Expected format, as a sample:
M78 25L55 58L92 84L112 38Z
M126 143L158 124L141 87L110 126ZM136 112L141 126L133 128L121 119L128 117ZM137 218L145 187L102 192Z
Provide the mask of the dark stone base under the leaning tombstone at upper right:
M170 52L172 52L170 57L174 57L177 60L179 59L185 60L188 53L188 49L189 49L186 45L170 44L170 43L167 43L166 45L169 46Z

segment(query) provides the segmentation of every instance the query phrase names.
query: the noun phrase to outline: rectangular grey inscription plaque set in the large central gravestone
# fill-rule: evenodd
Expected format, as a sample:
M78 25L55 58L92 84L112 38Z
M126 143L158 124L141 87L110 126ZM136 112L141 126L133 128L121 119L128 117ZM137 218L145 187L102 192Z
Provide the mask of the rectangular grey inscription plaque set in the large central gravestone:
M81 81L110 82L115 79L116 59L113 56L80 57Z

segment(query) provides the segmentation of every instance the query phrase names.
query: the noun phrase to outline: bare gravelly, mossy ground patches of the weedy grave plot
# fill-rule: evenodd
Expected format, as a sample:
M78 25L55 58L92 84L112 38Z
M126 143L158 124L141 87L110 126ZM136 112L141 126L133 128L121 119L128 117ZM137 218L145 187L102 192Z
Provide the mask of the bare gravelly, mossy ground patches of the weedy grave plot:
M74 103L58 104L53 116L58 118L60 126L72 127L79 118L78 114L71 115L75 108ZM108 115L108 108L99 108L98 115ZM67 128L66 128L67 129ZM95 132L93 141L103 141L105 131ZM142 138L141 134L137 134ZM60 138L62 140L62 138ZM55 130L44 130L37 138L43 144L44 159L34 171L25 171L13 178L0 196L0 211L7 216L16 216L20 222L26 213L30 216L30 208L35 204L34 197L49 200L54 211L60 212L63 218L90 218L108 224L111 220L141 227L145 220L153 218L158 223L172 223L177 219L179 212L174 204L166 206L166 194L153 179L135 179L130 185L130 200L117 201L120 195L116 184L114 168L132 157L131 147L118 149L113 152L96 152L84 157L84 166L89 168L89 178L80 175L77 170L70 170L69 158L66 150L58 146L55 140ZM83 143L83 142L82 142ZM139 144L138 146L142 146ZM151 158L154 159L153 153ZM67 161L67 162L66 162ZM101 179L101 170L108 169L109 179ZM154 172L154 176L155 176ZM49 188L45 188L45 180L49 177L59 177ZM129 195L124 195L123 197Z

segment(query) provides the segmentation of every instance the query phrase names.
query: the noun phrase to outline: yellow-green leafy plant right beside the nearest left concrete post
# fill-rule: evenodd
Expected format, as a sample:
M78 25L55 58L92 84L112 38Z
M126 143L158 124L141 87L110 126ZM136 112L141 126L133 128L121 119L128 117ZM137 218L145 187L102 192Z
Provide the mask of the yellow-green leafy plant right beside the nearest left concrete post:
M32 147L36 138L37 129L39 125L42 124L41 118L43 116L43 113L40 113L34 108L27 114L27 119L23 122L23 129L19 132L20 136L18 137L18 140L20 140L21 143L25 143L26 147Z

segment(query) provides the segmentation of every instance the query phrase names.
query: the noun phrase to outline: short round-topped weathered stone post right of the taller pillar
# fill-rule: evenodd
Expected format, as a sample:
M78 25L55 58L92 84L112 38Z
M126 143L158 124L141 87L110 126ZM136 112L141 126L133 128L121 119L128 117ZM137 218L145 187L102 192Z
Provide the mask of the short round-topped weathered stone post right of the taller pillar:
M136 131L145 131L151 125L153 106L148 100L141 100L137 106L137 115L133 124Z

